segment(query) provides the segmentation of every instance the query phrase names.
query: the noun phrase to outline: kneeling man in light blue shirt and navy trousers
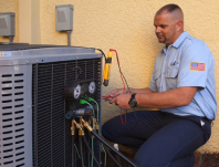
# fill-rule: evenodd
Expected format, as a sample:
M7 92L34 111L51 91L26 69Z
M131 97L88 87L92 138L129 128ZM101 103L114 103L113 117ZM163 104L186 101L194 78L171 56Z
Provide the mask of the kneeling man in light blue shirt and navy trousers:
M178 6L159 9L154 25L165 46L156 58L149 87L107 95L123 109L160 109L128 113L125 125L114 117L103 125L103 136L136 149L134 161L139 167L200 166L194 152L209 139L217 112L213 55L205 42L184 32Z

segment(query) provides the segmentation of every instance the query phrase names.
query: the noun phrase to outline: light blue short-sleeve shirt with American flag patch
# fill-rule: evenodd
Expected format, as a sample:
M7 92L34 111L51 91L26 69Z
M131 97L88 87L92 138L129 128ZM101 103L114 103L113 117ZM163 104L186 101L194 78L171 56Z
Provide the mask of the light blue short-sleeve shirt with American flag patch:
M216 118L215 60L207 44L186 31L157 55L149 88L165 92L182 86L198 86L188 106L160 108L180 116Z

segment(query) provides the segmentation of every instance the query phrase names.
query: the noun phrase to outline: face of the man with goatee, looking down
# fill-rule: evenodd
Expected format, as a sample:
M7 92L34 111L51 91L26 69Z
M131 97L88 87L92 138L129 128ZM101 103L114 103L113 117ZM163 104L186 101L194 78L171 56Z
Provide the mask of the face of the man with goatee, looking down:
M160 43L173 44L177 40L176 19L169 12L155 15L155 33Z

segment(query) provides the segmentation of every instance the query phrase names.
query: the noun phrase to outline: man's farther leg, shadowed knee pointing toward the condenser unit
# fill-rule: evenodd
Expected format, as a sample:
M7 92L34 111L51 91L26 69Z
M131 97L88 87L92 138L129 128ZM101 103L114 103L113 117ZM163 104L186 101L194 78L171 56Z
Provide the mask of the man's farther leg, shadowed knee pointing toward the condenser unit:
M102 133L107 140L137 150L161 127L163 119L164 113L159 111L132 112L127 114L125 125L122 124L121 116L116 116L103 125Z

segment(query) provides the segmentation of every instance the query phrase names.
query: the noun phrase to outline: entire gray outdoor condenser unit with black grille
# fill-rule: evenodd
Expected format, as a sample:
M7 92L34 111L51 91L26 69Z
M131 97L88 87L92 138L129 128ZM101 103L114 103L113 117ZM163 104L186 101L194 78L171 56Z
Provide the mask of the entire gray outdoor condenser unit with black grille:
M101 70L102 54L93 49L0 44L0 167L72 166L63 90L66 83L92 80L101 106ZM97 140L94 153L100 160ZM80 167L77 154L74 160Z

